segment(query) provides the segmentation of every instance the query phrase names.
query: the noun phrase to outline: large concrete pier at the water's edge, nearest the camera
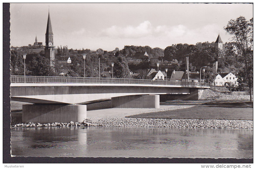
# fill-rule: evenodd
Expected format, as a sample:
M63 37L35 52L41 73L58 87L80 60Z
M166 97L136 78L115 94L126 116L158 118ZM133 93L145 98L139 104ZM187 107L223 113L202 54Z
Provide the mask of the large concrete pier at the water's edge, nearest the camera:
M68 123L86 119L86 105L33 104L22 105L22 122Z

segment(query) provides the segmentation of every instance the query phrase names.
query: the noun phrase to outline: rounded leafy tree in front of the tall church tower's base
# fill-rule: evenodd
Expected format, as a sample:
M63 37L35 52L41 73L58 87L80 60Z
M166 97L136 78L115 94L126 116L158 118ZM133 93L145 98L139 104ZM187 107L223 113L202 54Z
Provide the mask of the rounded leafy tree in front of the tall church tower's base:
M29 75L31 76L54 76L56 75L50 66L50 61L41 55L33 57L31 66L29 67Z

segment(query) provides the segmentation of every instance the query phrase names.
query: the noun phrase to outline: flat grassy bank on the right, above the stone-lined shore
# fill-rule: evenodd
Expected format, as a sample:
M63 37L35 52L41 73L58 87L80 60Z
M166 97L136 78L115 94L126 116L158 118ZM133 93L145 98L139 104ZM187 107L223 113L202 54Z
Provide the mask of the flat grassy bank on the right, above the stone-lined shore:
M253 120L253 103L214 101L191 108L142 113L128 118Z

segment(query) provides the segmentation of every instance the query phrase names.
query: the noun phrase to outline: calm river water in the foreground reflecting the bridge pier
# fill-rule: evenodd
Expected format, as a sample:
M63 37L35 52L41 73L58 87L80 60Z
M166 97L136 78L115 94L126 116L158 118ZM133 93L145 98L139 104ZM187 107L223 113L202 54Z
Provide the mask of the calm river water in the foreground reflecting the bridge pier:
M253 130L39 127L11 130L14 156L252 158Z

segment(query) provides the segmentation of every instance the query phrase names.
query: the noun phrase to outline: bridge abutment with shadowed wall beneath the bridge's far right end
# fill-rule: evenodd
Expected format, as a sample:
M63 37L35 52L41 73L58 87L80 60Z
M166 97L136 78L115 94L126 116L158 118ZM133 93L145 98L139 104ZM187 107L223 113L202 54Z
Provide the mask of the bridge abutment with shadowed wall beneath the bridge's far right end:
M169 100L199 100L203 94L204 88L190 88L189 94L179 95L179 94L166 94L160 95L160 101Z

